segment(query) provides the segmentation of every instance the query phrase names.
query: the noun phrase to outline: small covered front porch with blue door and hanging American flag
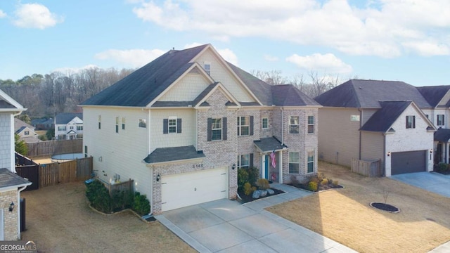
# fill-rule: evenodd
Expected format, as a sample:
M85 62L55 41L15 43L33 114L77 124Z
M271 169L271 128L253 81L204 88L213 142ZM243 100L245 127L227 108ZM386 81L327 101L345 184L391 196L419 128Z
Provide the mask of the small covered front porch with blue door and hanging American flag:
M275 137L261 138L255 143L260 176L273 183L283 183L283 151L288 147Z

